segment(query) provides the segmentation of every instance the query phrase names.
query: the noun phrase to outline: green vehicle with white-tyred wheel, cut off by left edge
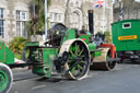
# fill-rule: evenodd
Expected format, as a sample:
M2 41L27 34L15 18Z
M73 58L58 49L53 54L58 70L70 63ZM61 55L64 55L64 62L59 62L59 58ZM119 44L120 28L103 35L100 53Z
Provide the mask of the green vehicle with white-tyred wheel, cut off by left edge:
M7 93L12 86L13 74L9 67L11 65L14 65L14 55L0 42L0 93Z

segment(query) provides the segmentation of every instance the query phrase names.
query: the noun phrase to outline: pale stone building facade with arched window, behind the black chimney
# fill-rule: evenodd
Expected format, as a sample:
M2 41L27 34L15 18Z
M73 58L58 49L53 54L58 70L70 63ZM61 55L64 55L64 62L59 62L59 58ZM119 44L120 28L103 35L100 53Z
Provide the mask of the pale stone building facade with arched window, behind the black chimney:
M103 8L94 7L98 0L52 0L49 8L49 26L55 23L63 23L68 27L81 28L89 26L88 10L94 10L94 30L110 31L113 23L113 0L104 0Z

